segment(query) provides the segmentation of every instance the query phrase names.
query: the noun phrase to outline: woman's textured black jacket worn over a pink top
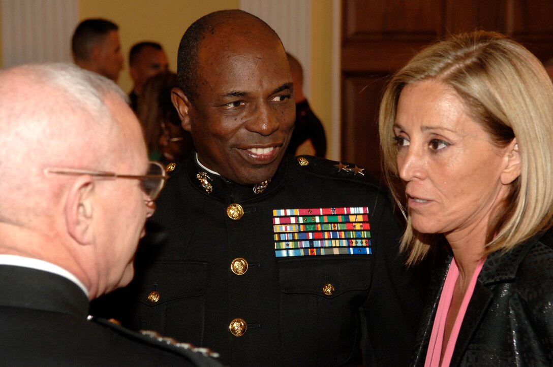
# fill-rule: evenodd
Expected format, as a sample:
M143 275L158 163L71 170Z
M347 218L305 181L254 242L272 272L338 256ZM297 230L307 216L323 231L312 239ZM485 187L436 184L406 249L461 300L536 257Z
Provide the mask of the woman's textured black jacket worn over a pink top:
M451 257L436 272L422 314L413 366L424 366ZM553 365L553 232L486 259L451 366Z

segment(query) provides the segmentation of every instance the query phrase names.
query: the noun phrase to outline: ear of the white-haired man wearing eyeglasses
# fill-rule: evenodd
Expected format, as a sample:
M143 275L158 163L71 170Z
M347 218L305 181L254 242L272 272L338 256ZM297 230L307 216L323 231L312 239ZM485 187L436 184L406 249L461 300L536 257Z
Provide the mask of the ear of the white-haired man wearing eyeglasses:
M67 232L80 244L91 244L94 240L92 226L94 181L82 175L71 185L65 203Z

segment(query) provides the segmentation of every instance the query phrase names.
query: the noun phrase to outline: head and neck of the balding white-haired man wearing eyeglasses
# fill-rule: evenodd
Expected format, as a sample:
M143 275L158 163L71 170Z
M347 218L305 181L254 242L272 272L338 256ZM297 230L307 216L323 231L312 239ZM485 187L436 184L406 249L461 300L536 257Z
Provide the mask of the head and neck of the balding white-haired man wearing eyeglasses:
M90 299L129 283L153 212L140 180L49 171L144 175L142 130L126 95L104 77L60 63L3 71L0 96L0 252L68 270Z

